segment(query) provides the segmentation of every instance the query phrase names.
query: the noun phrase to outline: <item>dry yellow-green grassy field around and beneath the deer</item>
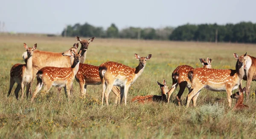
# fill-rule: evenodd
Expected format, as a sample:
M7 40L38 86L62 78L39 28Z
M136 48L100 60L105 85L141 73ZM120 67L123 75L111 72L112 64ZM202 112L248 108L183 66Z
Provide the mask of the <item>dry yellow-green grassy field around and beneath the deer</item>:
M52 87L49 94L39 94L33 104L26 99L15 99L16 85L11 96L7 98L10 69L15 63L24 63L23 43L29 47L38 43L38 50L64 52L76 42L75 37L0 36L1 138L255 138L255 82L251 85L250 100L245 102L250 108L241 111L228 108L226 92L212 92L206 89L202 89L195 108L192 105L189 108L177 106L175 96L179 88L172 94L170 104L130 102L137 95L160 95L156 81L162 82L166 79L167 85L172 86L172 71L183 64L201 67L199 58L212 58L212 68L235 69L236 59L233 53L240 56L247 52L256 56L256 45L250 44L96 38L90 43L86 56L86 63L92 65L116 61L135 68L138 60L135 59L134 53L141 57L152 54L144 73L128 91L128 106L114 105L114 95L111 93L110 106L102 107L101 85L88 85L87 97L81 99L77 82L74 82L74 95L69 102L63 90L61 101L58 102L55 87ZM243 81L243 86L245 83ZM35 84L33 90L34 88ZM187 94L186 89L181 98L183 105ZM233 100L232 105L234 104Z

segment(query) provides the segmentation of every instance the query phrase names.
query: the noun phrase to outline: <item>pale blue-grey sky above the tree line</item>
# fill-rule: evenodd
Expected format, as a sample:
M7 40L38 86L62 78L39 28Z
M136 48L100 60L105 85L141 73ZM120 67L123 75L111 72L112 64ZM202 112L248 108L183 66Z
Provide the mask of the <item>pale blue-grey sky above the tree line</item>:
M85 22L119 29L256 23L255 6L256 0L0 0L0 22L5 31L53 34Z

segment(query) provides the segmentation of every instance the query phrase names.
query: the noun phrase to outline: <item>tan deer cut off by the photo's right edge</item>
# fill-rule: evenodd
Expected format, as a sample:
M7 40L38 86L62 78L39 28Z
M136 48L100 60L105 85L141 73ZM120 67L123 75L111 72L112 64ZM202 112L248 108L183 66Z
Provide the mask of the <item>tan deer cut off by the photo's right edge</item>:
M250 96L250 85L252 81L256 81L256 58L247 55L247 61L246 61L246 66L244 69L245 73L244 73L244 77L243 79L246 82L246 100L249 99ZM256 90L255 90L255 94L256 94Z

